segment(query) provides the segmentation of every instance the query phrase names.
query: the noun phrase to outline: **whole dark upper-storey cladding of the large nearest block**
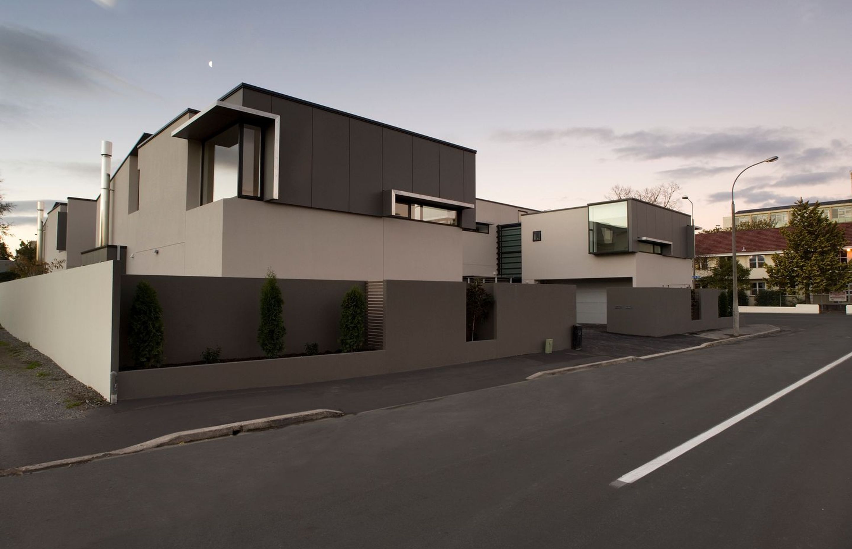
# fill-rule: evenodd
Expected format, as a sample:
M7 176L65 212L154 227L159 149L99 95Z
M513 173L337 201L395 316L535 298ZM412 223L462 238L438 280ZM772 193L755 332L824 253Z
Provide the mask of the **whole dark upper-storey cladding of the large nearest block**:
M381 216L397 189L475 204L475 153L248 88L227 101L281 117L279 202Z

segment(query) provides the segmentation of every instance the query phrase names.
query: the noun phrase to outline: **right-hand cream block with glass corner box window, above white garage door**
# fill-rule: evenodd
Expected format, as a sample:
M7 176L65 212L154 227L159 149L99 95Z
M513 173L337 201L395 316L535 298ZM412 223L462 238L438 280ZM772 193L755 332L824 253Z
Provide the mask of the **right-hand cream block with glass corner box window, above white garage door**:
M607 288L692 287L688 214L638 199L521 216L524 282L577 286L579 322L606 324Z

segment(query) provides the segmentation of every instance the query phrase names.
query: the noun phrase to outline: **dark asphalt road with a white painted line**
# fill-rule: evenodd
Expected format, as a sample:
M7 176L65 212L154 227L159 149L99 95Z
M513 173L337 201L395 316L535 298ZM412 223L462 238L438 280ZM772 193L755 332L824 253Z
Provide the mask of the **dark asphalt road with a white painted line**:
M0 478L3 547L849 547L852 317L280 431Z

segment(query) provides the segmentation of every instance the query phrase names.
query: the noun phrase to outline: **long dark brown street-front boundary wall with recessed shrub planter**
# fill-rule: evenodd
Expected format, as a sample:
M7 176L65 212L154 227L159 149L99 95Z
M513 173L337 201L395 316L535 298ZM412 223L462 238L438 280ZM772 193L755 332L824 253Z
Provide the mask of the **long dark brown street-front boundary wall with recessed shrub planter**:
M122 322L126 323L133 287L142 279L158 290L164 307L167 355L185 352L187 361L193 361L204 347L215 344L222 345L223 355L226 344L232 352L245 345L252 350L250 354L259 353L254 342L262 280L125 276ZM279 280L290 350L301 350L295 348L297 338L320 340L308 333L325 330L326 341L337 338L340 299L352 284ZM554 350L567 348L575 318L573 286L487 286L496 296L494 318L499 335L494 339L465 341L465 283L386 280L384 350L124 371L118 375L118 396L183 395L405 372L540 352L545 338L554 339ZM333 335L328 328L331 321ZM123 363L127 353L124 332L126 328L121 338Z

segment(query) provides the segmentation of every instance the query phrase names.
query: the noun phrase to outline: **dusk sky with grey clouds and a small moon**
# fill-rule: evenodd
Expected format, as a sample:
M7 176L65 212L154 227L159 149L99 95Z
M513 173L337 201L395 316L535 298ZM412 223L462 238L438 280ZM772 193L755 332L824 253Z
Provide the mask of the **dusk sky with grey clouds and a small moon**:
M738 210L849 199L850 28L848 0L0 0L6 240L100 193L101 140L118 167L241 82L474 148L477 196L528 208L676 182L711 228L772 155Z

